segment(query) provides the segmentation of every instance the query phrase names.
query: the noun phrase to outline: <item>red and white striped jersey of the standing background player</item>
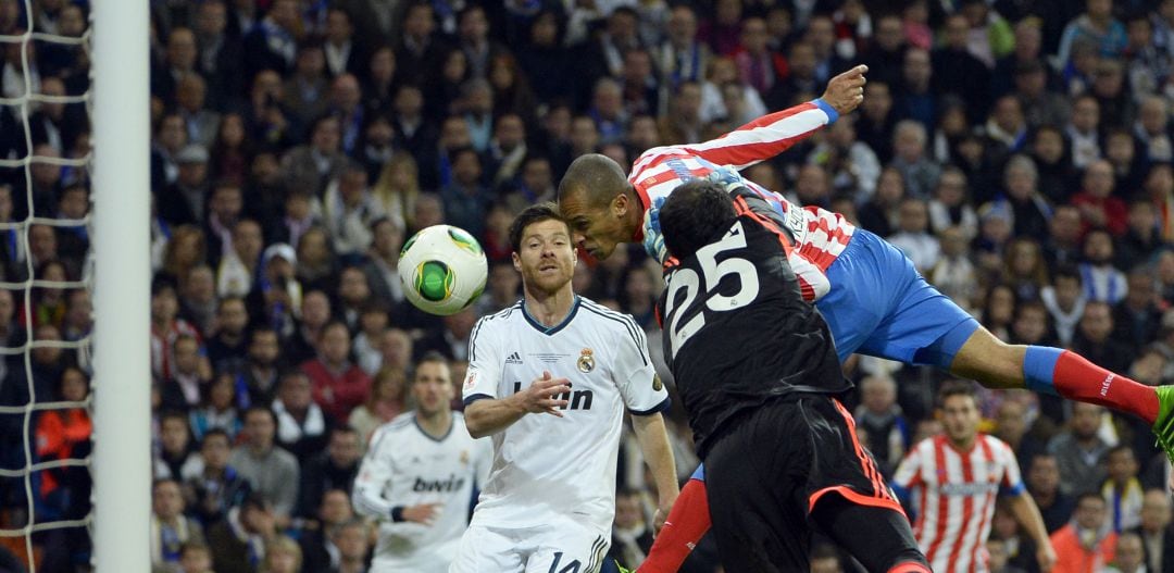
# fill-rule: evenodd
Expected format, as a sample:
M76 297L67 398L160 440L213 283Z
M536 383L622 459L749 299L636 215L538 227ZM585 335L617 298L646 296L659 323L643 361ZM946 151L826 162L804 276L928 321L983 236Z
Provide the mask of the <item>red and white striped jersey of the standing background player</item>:
M966 452L945 436L922 440L897 467L893 486L912 494L913 534L938 573L987 571L985 541L999 488L1024 491L1011 446L981 433Z

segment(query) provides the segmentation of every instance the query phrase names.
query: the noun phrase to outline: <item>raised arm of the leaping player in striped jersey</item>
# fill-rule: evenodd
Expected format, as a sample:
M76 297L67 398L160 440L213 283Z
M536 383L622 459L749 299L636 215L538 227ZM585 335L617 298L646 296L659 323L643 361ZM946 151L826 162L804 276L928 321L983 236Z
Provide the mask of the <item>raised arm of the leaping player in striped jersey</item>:
M864 101L868 70L868 66L856 66L828 81L823 95L816 100L763 115L716 140L674 146L673 149L735 169L774 157L855 110ZM655 148L649 150L649 154L655 153Z

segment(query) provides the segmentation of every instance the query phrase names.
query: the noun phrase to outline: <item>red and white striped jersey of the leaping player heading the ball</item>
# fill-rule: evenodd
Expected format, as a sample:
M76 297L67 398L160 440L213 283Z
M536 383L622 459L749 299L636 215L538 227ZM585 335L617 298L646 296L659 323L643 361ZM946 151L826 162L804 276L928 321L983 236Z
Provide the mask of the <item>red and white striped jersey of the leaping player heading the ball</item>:
M830 123L832 117L826 105L807 102L758 117L716 140L654 147L641 154L632 166L628 181L636 188L645 209L648 209L656 197L667 197L690 178L704 177L718 167L744 169L785 151ZM780 193L747 183L785 215L796 247L789 262L803 298L815 301L828 294L831 285L825 271L843 252L856 228L843 215L818 207L801 208ZM633 240L643 241L643 230L637 229Z

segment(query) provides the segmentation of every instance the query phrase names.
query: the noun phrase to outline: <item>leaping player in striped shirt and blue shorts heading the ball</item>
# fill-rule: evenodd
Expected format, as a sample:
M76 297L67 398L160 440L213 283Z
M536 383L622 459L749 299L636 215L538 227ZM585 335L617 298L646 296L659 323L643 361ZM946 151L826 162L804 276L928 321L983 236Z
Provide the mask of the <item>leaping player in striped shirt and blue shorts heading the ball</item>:
M794 249L788 257L805 299L831 329L841 360L859 352L906 364L933 365L993 389L1026 387L1113 407L1149 423L1174 459L1174 386L1151 387L1092 364L1080 355L1005 344L917 272L897 248L857 229L843 215L802 208L781 194L742 181L734 169L768 160L856 109L863 101L865 66L836 77L819 99L762 116L715 140L645 151L632 174L613 160L576 159L559 183L559 209L576 247L598 259L621 243L645 243L663 259L653 210L677 186L711 174L744 184L784 217ZM666 332L666 336L670 336ZM708 527L708 504L699 468L674 506L641 571L675 572ZM1174 484L1174 478L1172 478Z

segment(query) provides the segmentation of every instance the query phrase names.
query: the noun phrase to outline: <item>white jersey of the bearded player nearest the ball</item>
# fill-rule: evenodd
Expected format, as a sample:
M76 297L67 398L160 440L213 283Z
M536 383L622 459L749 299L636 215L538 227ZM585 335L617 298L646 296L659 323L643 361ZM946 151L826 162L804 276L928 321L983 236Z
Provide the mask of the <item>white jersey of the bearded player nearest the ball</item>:
M576 297L567 318L547 328L524 306L473 328L465 404L506 398L544 371L571 382L569 403L562 418L528 413L493 434L493 468L473 524L520 530L569 518L609 532L623 410L660 412L668 392L630 316Z

